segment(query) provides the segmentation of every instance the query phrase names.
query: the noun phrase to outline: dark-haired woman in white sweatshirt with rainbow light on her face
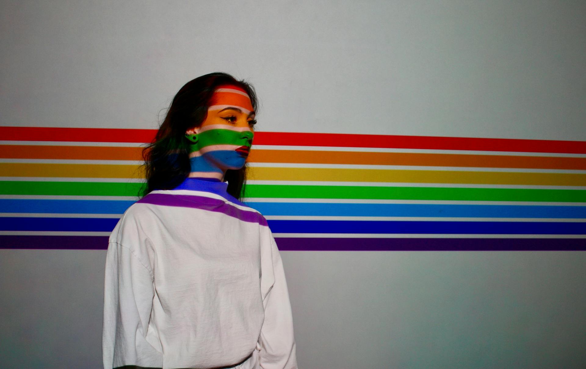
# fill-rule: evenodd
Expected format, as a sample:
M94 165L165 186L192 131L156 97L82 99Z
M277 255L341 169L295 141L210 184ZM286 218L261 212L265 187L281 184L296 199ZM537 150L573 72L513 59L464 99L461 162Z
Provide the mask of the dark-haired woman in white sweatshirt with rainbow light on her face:
M173 98L144 151L145 196L110 235L104 368L297 368L277 244L238 200L256 105L225 73Z

